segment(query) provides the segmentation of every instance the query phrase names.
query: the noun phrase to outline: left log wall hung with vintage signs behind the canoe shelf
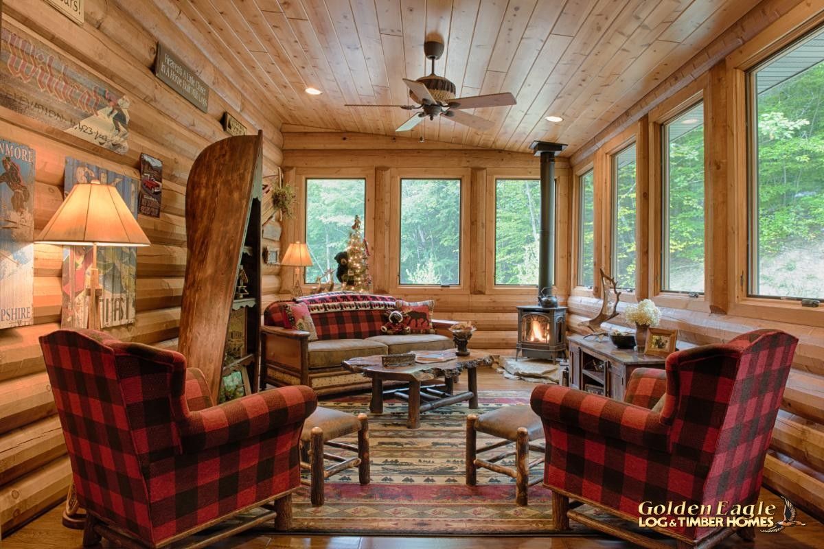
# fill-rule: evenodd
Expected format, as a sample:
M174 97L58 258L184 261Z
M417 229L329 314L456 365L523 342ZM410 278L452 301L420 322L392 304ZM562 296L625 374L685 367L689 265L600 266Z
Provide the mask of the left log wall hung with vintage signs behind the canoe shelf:
M265 101L248 83L247 75L227 69L234 66L224 63L223 55L228 53L218 47L215 37L199 34L196 28L185 26L185 21L173 21L152 2L86 0L85 5L86 23L77 26L46 2L4 0L2 25L38 35L59 54L124 90L131 101L129 152L106 151L2 107L0 135L36 151L35 233L63 199L67 156L135 178L139 177L141 152L163 161L161 216L138 217L152 246L138 249L137 319L110 331L124 340L175 347L186 263L184 207L190 166L209 143L227 137L220 119L228 111L249 133L263 130L264 175L277 174L282 159L281 123L258 106ZM195 108L154 77L157 40L209 86L208 112ZM277 236L268 244L277 246ZM35 244L35 324L0 330L3 535L62 500L71 478L37 340L59 328L61 272L61 247ZM275 295L279 286L278 268L267 267L265 293Z

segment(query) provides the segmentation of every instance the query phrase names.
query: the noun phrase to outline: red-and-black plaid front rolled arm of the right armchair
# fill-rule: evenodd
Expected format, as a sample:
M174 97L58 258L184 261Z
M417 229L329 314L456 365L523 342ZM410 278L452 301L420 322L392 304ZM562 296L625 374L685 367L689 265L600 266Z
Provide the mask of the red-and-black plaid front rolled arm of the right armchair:
M577 427L627 444L669 451L669 427L646 408L558 385L535 388L531 405L544 425Z

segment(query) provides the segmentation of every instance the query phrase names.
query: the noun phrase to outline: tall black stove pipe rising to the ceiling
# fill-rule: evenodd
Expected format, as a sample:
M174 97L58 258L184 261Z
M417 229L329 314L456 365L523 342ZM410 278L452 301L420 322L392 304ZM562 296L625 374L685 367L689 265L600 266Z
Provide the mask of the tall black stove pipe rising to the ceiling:
M533 141L530 148L541 157L541 243L538 251L538 303L557 307L555 282L555 155L566 145ZM548 298L548 299L547 299Z

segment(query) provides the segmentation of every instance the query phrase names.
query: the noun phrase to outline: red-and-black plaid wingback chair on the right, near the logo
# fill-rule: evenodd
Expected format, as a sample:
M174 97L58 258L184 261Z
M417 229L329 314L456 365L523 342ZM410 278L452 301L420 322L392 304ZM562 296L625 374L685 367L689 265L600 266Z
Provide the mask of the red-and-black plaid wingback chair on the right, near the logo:
M758 330L673 353L660 413L648 407L664 388L663 372L647 370L639 374L645 379L631 379L629 402L573 388L536 388L531 403L544 422L544 485L553 491L555 528L569 528L574 519L658 547L661 542L639 540L569 510L569 498L636 524L645 501L715 509L719 500L756 500L797 342L788 333ZM732 533L681 525L655 529L675 537L679 547L708 547ZM754 535L752 528L739 534Z

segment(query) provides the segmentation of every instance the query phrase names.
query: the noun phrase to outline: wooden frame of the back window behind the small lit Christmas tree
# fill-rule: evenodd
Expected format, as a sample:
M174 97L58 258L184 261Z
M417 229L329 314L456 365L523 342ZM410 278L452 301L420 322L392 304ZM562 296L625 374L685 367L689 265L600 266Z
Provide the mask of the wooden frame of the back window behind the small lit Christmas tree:
M295 170L294 174L294 185L295 185L295 207L297 216L295 216L293 230L289 231L291 234L289 235L289 240L286 240L285 245L288 247L290 242L294 240L300 240L301 242L306 242L306 234L307 234L307 179L363 179L366 181L364 186L364 215L366 219L364 220L365 231L363 233L363 238L367 240L370 244L375 240L375 227L374 223L369 223L368 220L375 219L375 170L368 170L362 168L298 168ZM342 245L345 245L342 244ZM285 252L285 248L284 248ZM378 258L376 254L372 254L372 258L370 258L369 268L370 270L375 268L376 265L379 265L382 261L382 258ZM282 277L289 277L290 279L294 277L293 269L281 269L281 276ZM333 275L334 276L334 275ZM290 280L291 282L291 280ZM337 280L335 280L337 283ZM301 288L304 293L311 291L312 286L311 283L307 283L306 281L301 281ZM285 281L283 282L283 287L291 287L285 285Z

